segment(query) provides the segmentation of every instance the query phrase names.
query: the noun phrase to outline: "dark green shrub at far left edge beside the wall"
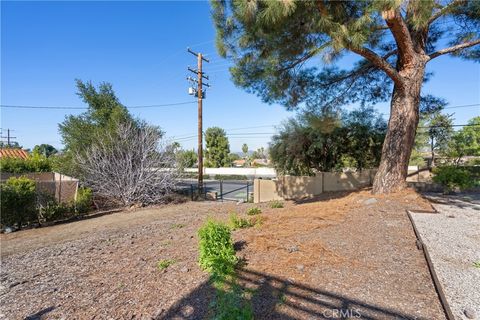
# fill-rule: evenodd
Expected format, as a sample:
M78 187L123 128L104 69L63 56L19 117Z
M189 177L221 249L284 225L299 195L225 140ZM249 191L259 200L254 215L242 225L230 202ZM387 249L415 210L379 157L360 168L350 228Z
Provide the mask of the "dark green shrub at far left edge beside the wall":
M0 186L1 224L22 227L37 221L35 182L26 177L11 177Z

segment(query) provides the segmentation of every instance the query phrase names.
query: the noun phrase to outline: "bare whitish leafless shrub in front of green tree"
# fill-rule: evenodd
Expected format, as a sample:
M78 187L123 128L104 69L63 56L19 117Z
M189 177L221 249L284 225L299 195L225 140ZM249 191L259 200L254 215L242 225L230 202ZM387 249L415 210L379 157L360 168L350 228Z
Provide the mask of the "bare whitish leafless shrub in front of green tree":
M124 122L98 137L76 159L85 182L99 196L122 205L154 204L175 187L175 155L162 132L146 123Z

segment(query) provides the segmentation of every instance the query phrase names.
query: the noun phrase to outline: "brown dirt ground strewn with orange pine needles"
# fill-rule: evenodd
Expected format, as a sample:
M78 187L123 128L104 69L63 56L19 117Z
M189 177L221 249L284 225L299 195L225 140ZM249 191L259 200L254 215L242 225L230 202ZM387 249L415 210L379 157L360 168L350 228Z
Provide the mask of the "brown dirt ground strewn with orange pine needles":
M2 234L0 319L203 319L213 290L197 230L251 206L188 202ZM260 227L234 232L256 319L445 319L405 212L431 209L417 194L260 207Z

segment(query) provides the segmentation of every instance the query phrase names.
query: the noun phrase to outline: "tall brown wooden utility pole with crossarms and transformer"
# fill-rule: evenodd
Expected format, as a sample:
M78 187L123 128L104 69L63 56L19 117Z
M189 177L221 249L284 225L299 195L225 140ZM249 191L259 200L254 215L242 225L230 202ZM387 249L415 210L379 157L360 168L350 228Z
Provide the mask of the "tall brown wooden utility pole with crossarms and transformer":
M202 63L210 62L203 57L201 53L196 53L187 48L187 51L197 57L197 70L188 67L188 71L197 74L197 79L187 77L187 80L197 84L196 90L193 90L191 94L195 94L198 99L198 196L203 194L203 105L202 101L205 98L205 92L203 86L210 87L208 83L203 83L203 78L208 80L208 76L203 74ZM195 92L196 91L196 92Z

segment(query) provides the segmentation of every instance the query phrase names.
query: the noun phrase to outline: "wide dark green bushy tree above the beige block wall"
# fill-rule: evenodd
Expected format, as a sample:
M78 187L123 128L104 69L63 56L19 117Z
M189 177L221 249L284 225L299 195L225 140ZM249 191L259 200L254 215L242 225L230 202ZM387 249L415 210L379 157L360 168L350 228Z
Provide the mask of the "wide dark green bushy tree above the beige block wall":
M277 171L292 175L373 168L380 162L385 131L385 121L372 108L330 116L304 113L273 136L270 157Z

